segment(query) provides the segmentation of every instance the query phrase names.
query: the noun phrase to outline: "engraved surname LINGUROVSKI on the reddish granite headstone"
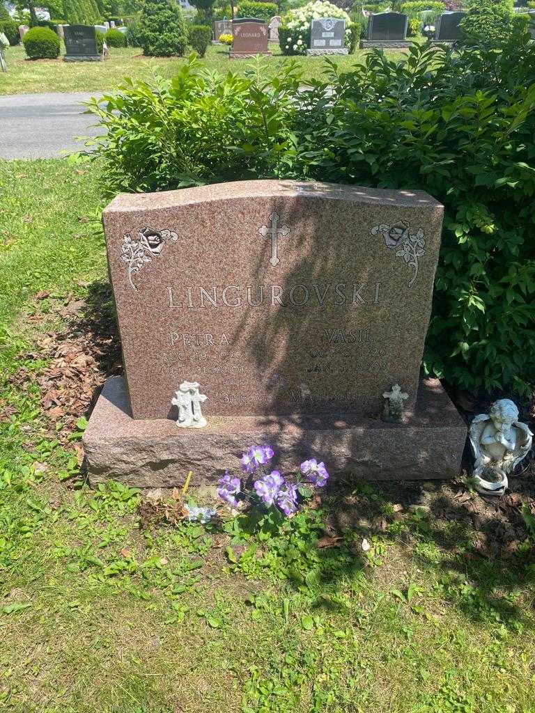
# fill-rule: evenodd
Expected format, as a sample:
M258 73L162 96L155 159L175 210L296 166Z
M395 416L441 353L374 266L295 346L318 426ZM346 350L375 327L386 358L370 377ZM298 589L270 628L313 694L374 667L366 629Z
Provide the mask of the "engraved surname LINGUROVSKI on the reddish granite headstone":
M167 288L169 309L210 309L222 307L347 307L359 304L380 304L380 283L373 284L260 284L240 287Z

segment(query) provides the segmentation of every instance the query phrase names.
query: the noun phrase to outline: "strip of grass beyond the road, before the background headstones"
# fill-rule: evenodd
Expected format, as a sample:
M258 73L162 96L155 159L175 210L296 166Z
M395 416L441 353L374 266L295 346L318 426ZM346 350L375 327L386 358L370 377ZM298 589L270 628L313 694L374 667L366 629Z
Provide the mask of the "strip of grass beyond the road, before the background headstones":
M283 58L278 45L270 45L273 52L266 59L266 66L277 68ZM402 51L392 51L392 57L400 56ZM340 68L350 68L362 62L364 51L357 51L350 56L332 56ZM295 59L303 71L303 81L317 78L325 67L325 60L320 57L297 57ZM158 71L164 77L172 77L185 62L185 58L148 58L144 57L139 48L111 48L110 56L105 62L64 62L58 59L29 60L22 46L10 47L6 50L8 71L0 73L0 94L22 94L31 92L82 92L108 91L115 89L121 80L128 76L132 78L148 78L153 71ZM220 72L243 73L250 65L248 60L230 60L228 47L213 45L208 48L203 63L208 69Z

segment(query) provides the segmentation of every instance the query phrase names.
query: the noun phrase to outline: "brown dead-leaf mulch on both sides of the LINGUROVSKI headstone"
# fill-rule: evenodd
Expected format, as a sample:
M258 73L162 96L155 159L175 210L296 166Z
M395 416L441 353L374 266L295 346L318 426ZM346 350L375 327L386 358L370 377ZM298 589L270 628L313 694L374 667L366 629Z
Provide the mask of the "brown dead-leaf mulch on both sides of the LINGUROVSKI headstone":
M76 430L76 421L91 414L106 378L122 371L121 347L110 288L108 284L98 282L91 285L81 283L81 287L88 287L86 300L72 294L61 301L50 298L53 316L65 326L39 334L34 348L21 354L23 362L44 360L46 366L38 370L20 366L9 379L11 384L23 390L28 389L30 384L39 387L47 430L66 447L78 451L79 461L81 446L69 441L68 437ZM36 297L43 300L49 299L50 295L41 292ZM25 318L26 322L36 323L43 319L39 310ZM467 422L474 414L484 413L492 400L506 395L450 391ZM533 426L534 400L524 399L519 406L521 418ZM14 413L14 407L2 403L0 399L0 419ZM60 422L63 428L56 431L56 424ZM494 558L499 553L512 553L527 536L522 507L528 508L535 516L534 476L534 461L524 461L521 477L509 479L509 491L501 498L485 498L472 493L462 481L374 483L383 501L392 504L393 515L388 517L384 515L379 501L355 494L354 483L342 482L333 486L335 495L339 496L339 506L336 515L331 515L327 523L322 546L336 546L340 532L348 526L380 532L392 519L405 518L417 508L422 508L434 523L455 520L473 528L476 549L481 555ZM166 520L183 517L178 500L176 504L177 512L173 508L165 511ZM149 503L146 508L146 520L151 520L153 506Z

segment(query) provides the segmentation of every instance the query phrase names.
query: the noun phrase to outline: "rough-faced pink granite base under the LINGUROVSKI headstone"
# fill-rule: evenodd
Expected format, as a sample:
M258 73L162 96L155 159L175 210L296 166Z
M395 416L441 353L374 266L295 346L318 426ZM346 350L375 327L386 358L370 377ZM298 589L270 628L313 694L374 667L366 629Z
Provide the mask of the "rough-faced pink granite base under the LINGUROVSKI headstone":
M467 427L436 379L422 379L414 414L403 424L355 416L213 416L203 429L181 429L170 419L131 417L126 382L103 386L86 433L91 483L113 478L138 488L213 484L225 470L240 471L239 457L255 443L277 453L273 467L295 470L321 458L333 478L355 481L430 480L459 473Z

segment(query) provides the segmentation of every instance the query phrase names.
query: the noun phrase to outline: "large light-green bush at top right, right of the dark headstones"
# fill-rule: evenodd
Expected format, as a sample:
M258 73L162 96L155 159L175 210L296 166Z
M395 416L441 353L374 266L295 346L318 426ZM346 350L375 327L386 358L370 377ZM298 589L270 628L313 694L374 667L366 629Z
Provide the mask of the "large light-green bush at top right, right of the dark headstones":
M511 5L506 0L472 0L460 26L464 42L500 43L513 29Z

